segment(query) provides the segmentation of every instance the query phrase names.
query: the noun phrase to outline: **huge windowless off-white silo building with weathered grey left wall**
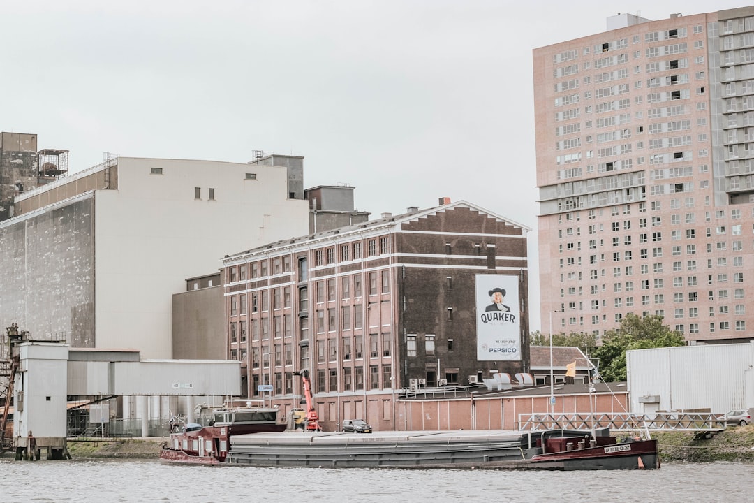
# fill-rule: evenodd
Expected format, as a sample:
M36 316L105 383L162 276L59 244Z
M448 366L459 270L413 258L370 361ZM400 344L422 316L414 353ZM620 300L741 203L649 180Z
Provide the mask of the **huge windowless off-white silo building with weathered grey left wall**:
M308 232L302 171L286 155L121 157L26 187L0 223L0 323L172 358L172 296L185 278L217 271L228 250Z

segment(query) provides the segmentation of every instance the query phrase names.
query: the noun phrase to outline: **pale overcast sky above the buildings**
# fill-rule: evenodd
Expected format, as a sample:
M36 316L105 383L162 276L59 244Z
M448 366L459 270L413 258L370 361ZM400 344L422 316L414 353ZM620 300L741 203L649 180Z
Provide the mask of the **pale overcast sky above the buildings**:
M359 210L466 200L532 228L532 49L740 1L48 0L2 2L0 130L68 149L72 172L128 157L302 155L306 187ZM232 251L232 250L231 250Z

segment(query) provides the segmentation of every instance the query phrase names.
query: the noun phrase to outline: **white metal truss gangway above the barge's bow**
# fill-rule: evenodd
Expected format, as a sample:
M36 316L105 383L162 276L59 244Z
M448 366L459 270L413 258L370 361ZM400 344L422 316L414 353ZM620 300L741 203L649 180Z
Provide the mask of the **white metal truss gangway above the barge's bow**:
M661 413L655 416L631 413L533 413L519 414L519 430L694 431L725 430L725 419L711 413Z

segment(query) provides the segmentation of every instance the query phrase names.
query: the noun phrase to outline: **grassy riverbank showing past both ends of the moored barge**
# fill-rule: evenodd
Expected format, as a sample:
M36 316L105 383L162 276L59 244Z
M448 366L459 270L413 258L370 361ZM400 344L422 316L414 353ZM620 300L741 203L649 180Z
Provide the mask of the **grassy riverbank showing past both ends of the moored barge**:
M710 438L676 431L655 434L663 462L737 461L754 463L754 425L728 428ZM74 459L157 459L164 438L130 439L122 443L69 442Z

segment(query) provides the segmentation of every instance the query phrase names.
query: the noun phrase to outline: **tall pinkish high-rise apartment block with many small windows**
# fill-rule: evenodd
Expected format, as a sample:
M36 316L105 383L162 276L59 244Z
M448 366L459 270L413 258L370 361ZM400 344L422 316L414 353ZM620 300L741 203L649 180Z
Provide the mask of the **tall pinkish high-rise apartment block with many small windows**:
M610 17L534 82L543 331L752 339L754 7Z

